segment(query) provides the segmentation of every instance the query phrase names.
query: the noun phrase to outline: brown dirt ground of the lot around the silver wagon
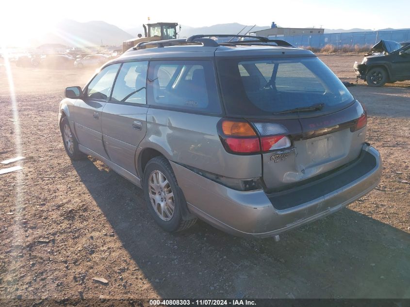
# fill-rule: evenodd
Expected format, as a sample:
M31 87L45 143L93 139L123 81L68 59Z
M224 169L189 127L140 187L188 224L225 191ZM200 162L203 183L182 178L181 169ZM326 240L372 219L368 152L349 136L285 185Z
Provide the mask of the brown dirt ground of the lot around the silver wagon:
M356 81L362 55L320 58ZM165 233L140 189L64 151L58 103L92 71L11 68L16 107L0 67L0 161L26 159L0 175L0 298L410 298L410 82L349 87L383 159L377 189L274 242L203 222Z

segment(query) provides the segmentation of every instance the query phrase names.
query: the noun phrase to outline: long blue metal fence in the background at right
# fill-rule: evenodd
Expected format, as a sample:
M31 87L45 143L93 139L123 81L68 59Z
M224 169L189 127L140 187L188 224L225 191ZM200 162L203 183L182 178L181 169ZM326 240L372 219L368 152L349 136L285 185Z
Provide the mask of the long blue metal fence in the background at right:
M278 36L269 37L272 39L283 39L296 47L322 48L328 44L341 48L344 46L365 46L375 45L378 41L392 40L396 42L410 40L410 30L393 31L372 31L372 32L345 32L345 33L325 33L311 35Z

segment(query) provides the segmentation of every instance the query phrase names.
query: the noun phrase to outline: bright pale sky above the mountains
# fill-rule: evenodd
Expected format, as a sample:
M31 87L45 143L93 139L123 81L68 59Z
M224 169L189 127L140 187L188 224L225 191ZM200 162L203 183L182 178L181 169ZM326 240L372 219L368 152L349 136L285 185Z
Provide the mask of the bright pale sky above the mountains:
M230 22L268 26L275 21L295 28L400 29L410 28L409 12L408 0L6 0L1 3L0 39L47 32L62 19L102 20L127 30L147 23L148 16L151 22L192 27Z

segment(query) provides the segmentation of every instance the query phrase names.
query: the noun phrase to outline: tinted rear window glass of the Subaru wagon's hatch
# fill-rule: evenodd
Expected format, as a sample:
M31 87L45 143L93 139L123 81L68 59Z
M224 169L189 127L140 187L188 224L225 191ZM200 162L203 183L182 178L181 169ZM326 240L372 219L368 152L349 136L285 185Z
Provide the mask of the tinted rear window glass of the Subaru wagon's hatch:
M318 58L224 58L217 67L228 115L266 116L317 104L322 107L312 112L328 112L353 101Z

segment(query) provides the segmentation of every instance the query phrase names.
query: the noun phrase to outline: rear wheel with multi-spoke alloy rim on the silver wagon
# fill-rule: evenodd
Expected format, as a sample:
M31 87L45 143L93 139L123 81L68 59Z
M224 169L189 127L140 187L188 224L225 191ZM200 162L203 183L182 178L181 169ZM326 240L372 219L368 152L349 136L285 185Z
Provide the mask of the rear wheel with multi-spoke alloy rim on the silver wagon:
M185 204L168 160L162 156L151 159L145 167L143 183L148 211L161 228L177 232L195 224L197 219L182 219L181 206Z

